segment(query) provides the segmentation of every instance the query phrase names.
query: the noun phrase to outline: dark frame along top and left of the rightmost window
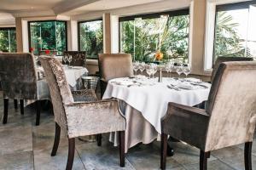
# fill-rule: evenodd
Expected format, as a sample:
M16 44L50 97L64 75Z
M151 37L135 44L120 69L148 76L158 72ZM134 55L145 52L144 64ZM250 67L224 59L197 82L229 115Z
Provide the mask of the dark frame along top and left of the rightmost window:
M239 3L225 3L225 4L216 5L215 20L214 20L214 42L213 42L213 52L212 52L212 68L213 68L213 65L215 63L214 62L215 61L215 41L216 41L216 28L217 28L218 12L250 8L250 5L252 5L252 4L256 4L256 0L246 1L246 2L239 2Z

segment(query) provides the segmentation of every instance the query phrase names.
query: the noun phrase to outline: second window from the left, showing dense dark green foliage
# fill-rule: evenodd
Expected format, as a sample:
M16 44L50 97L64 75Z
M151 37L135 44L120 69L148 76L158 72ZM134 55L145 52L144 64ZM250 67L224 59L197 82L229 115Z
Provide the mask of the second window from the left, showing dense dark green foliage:
M67 23L65 21L47 20L28 22L29 45L34 54L40 51L56 51L57 55L67 50Z

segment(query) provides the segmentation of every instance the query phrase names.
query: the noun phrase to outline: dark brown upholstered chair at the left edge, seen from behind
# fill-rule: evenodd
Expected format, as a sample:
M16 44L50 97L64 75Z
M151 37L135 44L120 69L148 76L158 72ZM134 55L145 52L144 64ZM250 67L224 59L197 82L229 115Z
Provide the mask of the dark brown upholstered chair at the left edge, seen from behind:
M24 114L24 99L28 99L36 100L36 125L39 125L40 100L50 100L50 97L46 80L37 77L32 54L0 54L0 77L4 97L3 124L8 119L9 99L20 99L21 115Z

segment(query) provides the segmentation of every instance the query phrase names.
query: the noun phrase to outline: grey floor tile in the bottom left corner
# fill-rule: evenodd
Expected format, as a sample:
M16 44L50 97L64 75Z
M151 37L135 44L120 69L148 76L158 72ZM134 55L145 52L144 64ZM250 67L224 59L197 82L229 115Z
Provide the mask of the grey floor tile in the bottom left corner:
M30 170L33 169L32 151L4 154L0 156L0 169Z

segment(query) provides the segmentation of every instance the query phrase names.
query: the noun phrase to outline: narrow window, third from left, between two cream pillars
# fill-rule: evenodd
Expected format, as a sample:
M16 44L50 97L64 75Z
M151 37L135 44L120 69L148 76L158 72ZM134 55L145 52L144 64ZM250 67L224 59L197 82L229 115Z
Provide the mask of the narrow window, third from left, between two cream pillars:
M86 51L88 59L103 53L102 20L79 22L79 50Z

